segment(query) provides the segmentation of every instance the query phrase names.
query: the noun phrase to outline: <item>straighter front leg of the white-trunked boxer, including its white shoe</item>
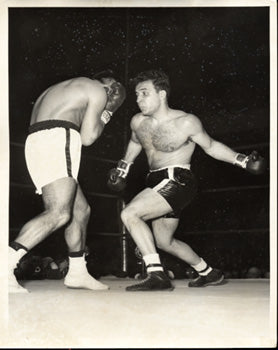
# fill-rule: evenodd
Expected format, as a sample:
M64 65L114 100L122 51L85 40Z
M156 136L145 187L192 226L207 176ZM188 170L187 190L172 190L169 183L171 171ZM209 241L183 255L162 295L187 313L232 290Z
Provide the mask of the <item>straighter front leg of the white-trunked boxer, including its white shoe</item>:
M69 288L104 290L108 289L108 286L94 279L86 267L84 248L90 211L90 206L78 185L72 219L65 230L65 240L69 250L69 270L64 283Z

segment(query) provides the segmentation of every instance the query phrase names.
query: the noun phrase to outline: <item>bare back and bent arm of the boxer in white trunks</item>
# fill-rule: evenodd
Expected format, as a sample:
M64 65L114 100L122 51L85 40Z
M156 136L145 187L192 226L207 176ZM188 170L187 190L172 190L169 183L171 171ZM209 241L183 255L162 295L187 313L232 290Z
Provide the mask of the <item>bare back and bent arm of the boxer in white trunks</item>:
M107 90L98 80L74 78L51 86L37 99L30 124L64 120L77 125L84 146L101 134L101 113L107 102Z

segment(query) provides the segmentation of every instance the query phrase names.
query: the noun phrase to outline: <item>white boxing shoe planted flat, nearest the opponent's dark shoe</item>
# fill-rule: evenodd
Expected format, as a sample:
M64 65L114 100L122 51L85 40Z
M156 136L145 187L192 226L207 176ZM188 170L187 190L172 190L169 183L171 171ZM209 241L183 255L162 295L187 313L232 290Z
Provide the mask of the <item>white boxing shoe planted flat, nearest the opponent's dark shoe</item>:
M104 290L109 287L97 281L87 270L85 256L69 257L69 270L64 284L69 288L84 288L91 290Z

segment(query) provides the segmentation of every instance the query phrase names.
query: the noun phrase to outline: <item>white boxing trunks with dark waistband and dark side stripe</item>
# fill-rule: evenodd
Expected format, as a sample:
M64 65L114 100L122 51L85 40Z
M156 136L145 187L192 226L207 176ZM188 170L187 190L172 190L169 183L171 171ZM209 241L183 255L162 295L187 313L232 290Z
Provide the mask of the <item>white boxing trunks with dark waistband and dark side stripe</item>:
M29 127L25 158L36 193L64 177L77 181L81 147L79 128L71 122L47 120Z

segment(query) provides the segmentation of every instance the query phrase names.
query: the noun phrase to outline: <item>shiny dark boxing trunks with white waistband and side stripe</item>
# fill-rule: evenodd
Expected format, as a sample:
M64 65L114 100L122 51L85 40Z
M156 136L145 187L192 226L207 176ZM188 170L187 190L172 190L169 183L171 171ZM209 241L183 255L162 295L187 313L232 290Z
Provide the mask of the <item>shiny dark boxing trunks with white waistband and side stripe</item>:
M146 178L146 185L166 199L173 209L173 213L165 217L178 218L197 193L195 176L190 170L180 167L150 171Z

